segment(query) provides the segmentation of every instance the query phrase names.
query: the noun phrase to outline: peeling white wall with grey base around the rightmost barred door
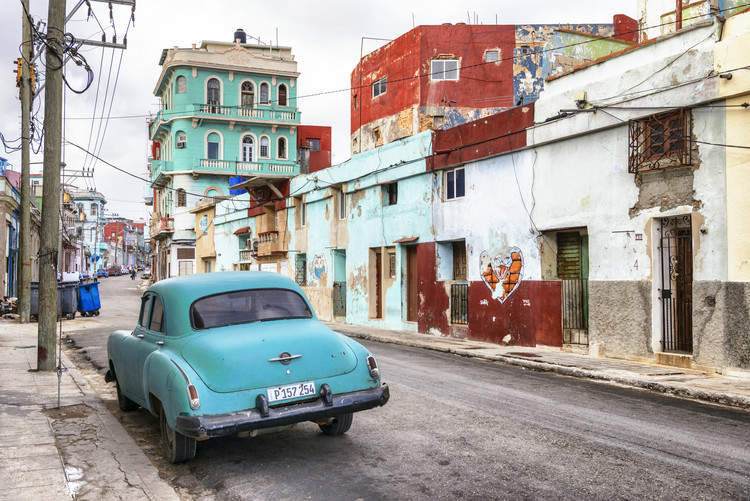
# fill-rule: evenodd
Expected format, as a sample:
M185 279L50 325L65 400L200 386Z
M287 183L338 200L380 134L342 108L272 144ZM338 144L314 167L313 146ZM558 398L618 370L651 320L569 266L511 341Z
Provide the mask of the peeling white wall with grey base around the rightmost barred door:
M731 143L730 112L700 106L720 102L720 79L710 76L720 28L707 21L550 80L535 103L540 125L529 132L531 145L539 145L530 212L540 229L587 229L589 342L598 353L654 358L664 351L661 291L670 287L662 283L660 221L691 216L693 363L750 367L747 287L728 281L727 271L729 188L722 145ZM593 104L621 108L545 122L571 108L579 90ZM697 105L690 110L693 163L629 173L627 122L649 117L664 103Z

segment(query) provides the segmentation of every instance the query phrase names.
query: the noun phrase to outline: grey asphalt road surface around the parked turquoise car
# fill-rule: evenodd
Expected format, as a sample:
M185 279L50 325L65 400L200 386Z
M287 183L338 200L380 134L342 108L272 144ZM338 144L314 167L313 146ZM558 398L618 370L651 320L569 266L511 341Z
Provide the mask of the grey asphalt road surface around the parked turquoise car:
M132 328L139 293L128 277L100 291L102 314L86 319L96 324L68 338L104 367L106 333ZM746 411L365 344L391 400L342 437L304 423L200 442L193 461L171 465L157 420L100 393L185 499L750 499Z

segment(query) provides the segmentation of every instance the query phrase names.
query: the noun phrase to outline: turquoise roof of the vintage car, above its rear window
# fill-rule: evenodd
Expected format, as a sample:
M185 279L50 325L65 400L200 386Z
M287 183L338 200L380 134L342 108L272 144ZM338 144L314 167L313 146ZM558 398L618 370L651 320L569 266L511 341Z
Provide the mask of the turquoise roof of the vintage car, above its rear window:
M175 318L178 324L175 327L181 329L185 327L183 321L187 320L188 309L196 299L234 290L279 288L297 292L309 305L307 296L294 280L268 271L218 271L183 275L160 280L151 285L148 291L156 292L161 296L165 309L185 313L179 314L180 320ZM170 326L167 325L167 328L169 329Z

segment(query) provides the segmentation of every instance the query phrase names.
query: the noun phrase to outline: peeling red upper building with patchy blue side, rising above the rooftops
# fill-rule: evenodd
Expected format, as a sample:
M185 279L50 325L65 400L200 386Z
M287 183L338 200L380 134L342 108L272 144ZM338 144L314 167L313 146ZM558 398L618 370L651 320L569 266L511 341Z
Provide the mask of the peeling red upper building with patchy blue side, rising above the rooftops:
M615 34L614 24L418 26L366 55L351 76L352 154L533 102L548 76L545 44L559 28L602 37ZM568 39L576 36L569 34ZM576 52L563 47L553 54L559 53L560 60L587 61L627 44L601 39L584 45L592 48ZM486 61L488 51L497 61ZM457 60L459 79L432 79L434 59ZM373 97L372 84L384 77L386 92Z

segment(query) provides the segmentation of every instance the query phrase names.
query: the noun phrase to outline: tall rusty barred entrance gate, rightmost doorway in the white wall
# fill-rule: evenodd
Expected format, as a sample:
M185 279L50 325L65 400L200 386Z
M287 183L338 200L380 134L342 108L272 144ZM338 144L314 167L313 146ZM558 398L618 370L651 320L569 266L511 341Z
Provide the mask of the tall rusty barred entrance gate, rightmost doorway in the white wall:
M662 349L693 352L693 235L691 216L661 219Z

